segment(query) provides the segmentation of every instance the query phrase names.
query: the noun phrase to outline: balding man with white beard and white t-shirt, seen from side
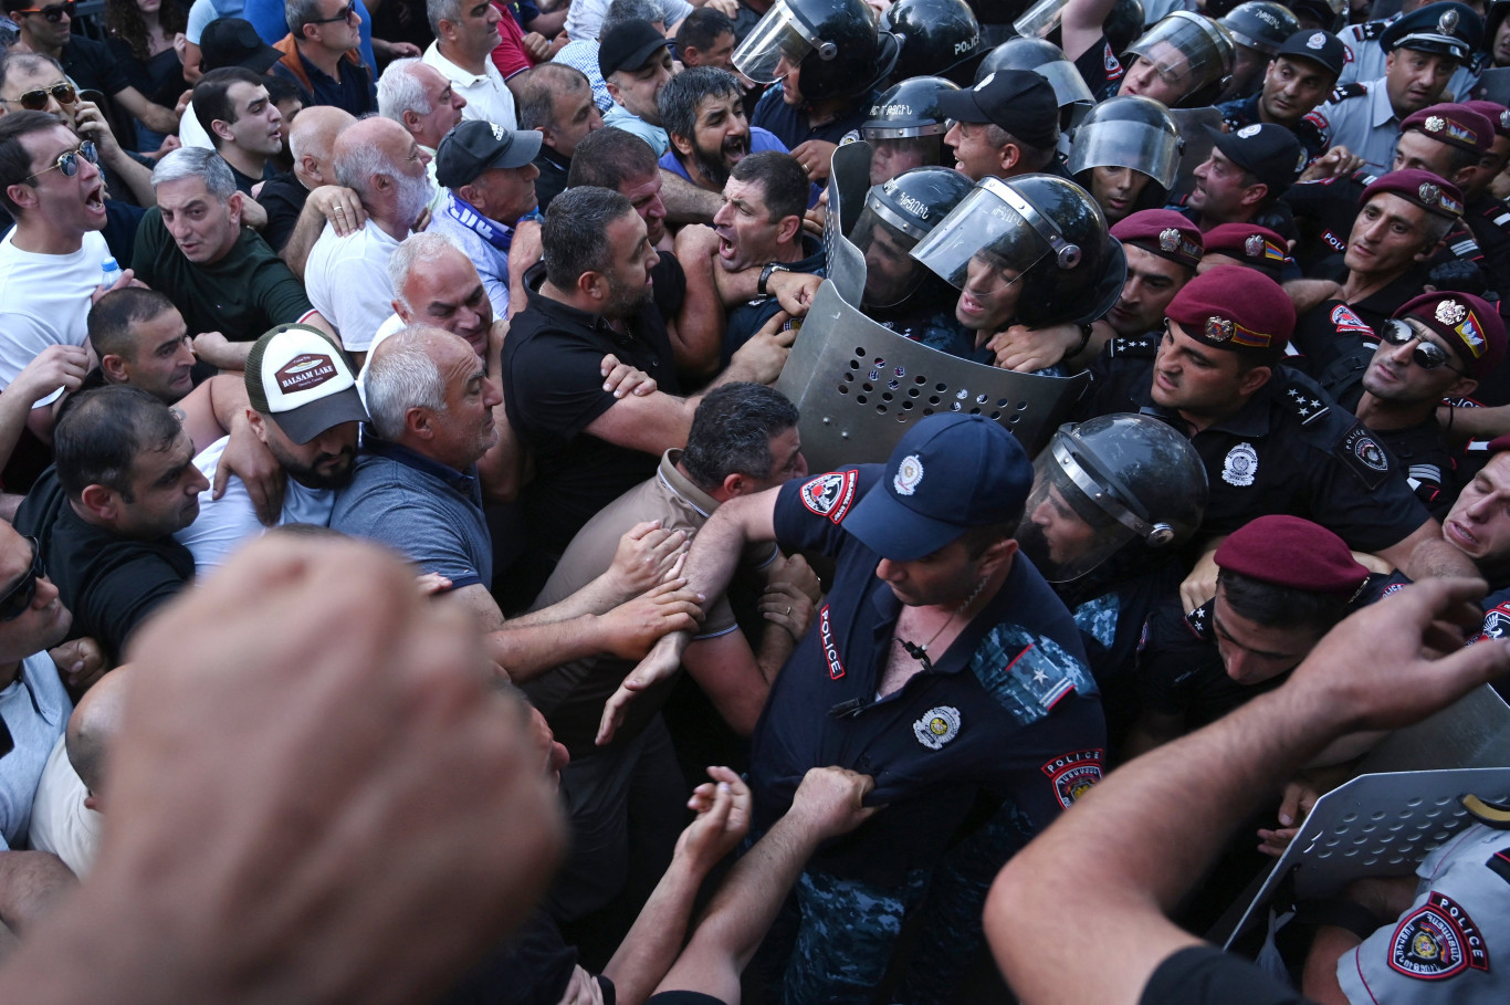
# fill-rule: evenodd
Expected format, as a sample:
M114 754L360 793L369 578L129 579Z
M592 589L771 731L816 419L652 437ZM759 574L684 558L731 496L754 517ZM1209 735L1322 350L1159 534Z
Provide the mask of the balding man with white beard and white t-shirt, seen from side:
M356 366L391 313L388 257L430 203L429 163L430 156L393 119L361 119L335 141L335 183L356 192L367 224L344 237L326 224L310 249L304 281L310 302L335 326Z

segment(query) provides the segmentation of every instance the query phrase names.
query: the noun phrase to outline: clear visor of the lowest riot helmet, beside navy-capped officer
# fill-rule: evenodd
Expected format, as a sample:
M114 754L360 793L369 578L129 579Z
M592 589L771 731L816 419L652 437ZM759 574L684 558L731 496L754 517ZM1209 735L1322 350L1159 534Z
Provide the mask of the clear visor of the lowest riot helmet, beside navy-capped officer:
M1077 481L1086 472L1065 443L1065 434L1055 434L1033 462L1033 491L1016 533L1022 553L1051 583L1080 579L1134 538L1092 499L1101 488L1090 482L1087 494Z

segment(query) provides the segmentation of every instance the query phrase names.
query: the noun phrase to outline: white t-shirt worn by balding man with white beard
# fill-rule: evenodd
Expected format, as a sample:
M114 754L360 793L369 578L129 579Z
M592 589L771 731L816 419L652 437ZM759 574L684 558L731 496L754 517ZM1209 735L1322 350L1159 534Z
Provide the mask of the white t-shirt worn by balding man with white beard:
M310 304L335 325L347 352L367 352L373 332L393 314L388 258L399 242L373 221L346 237L329 224L310 249L304 289Z

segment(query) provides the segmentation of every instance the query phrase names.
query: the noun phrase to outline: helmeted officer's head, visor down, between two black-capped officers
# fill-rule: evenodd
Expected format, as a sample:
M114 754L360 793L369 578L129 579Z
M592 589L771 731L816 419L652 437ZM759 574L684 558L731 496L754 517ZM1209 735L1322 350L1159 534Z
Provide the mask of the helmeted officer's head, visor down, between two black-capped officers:
M1098 104L1069 148L1069 174L1113 224L1164 204L1179 174L1184 141L1169 110L1152 98Z

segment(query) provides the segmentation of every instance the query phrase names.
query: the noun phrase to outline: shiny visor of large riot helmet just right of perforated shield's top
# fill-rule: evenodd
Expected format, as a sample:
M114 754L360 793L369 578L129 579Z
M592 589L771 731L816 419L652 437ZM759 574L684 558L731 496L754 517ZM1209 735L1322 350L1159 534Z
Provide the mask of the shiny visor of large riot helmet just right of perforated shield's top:
M986 178L954 212L912 249L912 257L956 289L965 289L971 261L1016 281L1049 243L1034 222L1042 222L1027 199L997 178Z

